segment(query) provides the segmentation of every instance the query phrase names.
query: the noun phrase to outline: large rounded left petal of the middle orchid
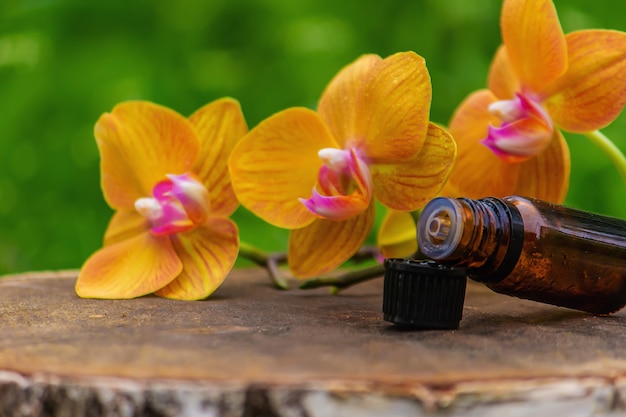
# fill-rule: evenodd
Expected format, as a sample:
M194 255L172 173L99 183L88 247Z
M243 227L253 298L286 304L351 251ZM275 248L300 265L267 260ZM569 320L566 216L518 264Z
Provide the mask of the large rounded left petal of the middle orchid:
M252 129L229 159L233 188L241 204L268 223L293 229L316 217L298 201L317 183L322 148L336 148L318 115L291 108Z

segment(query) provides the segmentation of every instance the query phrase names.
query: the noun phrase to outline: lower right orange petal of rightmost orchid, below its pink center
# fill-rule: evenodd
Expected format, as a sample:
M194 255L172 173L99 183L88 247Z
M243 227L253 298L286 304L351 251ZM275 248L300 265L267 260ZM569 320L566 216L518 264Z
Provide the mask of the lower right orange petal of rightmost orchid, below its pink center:
M563 203L569 185L570 156L567 142L558 130L548 148L519 165L521 177L512 194Z

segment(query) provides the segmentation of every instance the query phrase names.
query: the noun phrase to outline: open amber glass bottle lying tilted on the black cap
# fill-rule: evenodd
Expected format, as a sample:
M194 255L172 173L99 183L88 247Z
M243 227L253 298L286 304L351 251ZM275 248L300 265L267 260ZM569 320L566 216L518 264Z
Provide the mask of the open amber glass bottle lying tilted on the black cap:
M436 198L420 251L492 290L594 314L626 305L626 221L518 196Z

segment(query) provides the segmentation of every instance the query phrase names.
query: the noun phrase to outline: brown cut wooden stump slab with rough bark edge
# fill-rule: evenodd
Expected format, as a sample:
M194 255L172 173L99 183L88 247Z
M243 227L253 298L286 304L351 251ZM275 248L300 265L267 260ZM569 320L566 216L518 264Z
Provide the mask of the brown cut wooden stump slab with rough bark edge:
M470 284L459 330L408 332L382 280L331 296L239 270L176 302L82 300L74 279L0 278L1 417L626 413L624 312Z

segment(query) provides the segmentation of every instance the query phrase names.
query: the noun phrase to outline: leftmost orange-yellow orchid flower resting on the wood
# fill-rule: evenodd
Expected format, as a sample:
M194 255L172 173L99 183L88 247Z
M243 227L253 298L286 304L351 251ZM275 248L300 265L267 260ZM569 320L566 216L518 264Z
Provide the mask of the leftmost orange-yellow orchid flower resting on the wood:
M226 161L247 130L239 103L228 98L190 118L146 101L102 115L95 126L101 185L115 214L76 293L184 300L213 293L239 250Z

